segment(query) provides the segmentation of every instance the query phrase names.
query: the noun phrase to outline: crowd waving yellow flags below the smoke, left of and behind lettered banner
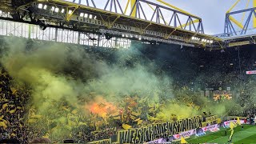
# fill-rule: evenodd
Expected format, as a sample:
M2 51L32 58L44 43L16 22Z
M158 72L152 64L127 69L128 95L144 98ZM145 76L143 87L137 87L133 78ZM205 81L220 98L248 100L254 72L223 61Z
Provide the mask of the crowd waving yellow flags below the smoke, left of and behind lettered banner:
M0 138L17 138L19 142L28 143L33 138L51 138L53 142L63 142L65 139L74 139L75 142L91 142L98 139L116 136L118 130L129 128L130 126L146 126L150 122L161 122L157 117L162 106L148 106L148 98L138 98L137 96L126 96L122 109L112 110L105 116L104 111L94 111L89 116L82 116L78 109L65 105L65 102L58 110L58 114L49 116L37 115L37 110L30 103L30 90L14 88L10 76L1 71L1 117L0 117ZM94 94L94 93L92 93ZM83 99L81 99L83 101ZM96 109L110 108L109 103L97 103ZM52 104L54 105L54 102ZM142 113L142 111L148 111ZM67 117L67 122L55 122L56 115ZM173 120L177 119L172 115ZM124 125L124 123L126 123ZM63 128L60 128L63 126ZM55 136L49 135L54 130L66 130L68 134ZM59 132L59 131L57 131ZM55 133L56 134L56 133Z

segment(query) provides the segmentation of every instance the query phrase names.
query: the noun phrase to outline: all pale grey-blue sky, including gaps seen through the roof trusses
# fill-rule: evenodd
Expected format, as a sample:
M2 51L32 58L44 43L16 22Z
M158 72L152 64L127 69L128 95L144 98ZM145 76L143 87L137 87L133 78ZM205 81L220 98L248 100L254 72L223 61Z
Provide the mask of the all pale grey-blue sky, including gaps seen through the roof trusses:
M68 0L72 1L72 0ZM90 1L90 0L89 0ZM107 0L94 0L97 7L103 8ZM126 6L128 0L118 0L123 9ZM150 2L157 2L156 0L148 0ZM199 18L202 18L202 23L206 34L222 34L224 32L224 22L226 11L236 2L236 0L164 0L182 10L186 10L190 14L194 14ZM248 8L252 7L253 0L241 0L234 10L246 9L246 3L250 1ZM78 2L78 0L76 0ZM82 0L82 3L86 0ZM163 4L162 4L163 5ZM144 9L144 8L143 8ZM150 8L145 7L146 14L149 14ZM232 10L232 11L234 11ZM168 14L164 14L164 17L170 17ZM237 16L238 20L242 19L242 14ZM245 21L244 21L245 22ZM186 23L186 22L185 22ZM235 28L238 29L238 28Z

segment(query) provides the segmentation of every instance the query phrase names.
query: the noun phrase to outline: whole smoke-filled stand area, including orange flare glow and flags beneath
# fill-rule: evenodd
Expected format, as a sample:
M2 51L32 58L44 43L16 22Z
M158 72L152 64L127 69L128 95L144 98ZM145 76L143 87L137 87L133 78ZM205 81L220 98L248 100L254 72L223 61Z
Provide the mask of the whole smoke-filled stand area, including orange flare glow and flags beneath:
M168 70L161 73L158 63L142 54L142 47L105 55L96 48L5 38L0 62L18 97L28 93L24 125L42 129L42 135L56 141L74 136L86 139L93 135L90 131L106 127L114 131L204 111L227 115L234 107L244 109L234 100L212 102L198 91L177 85L177 78Z

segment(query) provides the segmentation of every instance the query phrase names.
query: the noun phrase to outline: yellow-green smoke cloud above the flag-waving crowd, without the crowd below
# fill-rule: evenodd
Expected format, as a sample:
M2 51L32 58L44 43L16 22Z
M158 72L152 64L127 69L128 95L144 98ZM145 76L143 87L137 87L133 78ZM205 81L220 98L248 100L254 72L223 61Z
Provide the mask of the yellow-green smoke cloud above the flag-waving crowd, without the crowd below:
M118 51L113 56L113 64L101 59L100 54L87 54L82 46L19 38L6 39L2 51L2 66L14 78L14 83L31 89L32 100L28 105L35 106L35 113L44 116L42 121L50 119L45 123L52 126L51 138L70 137L69 131L78 121L76 117L81 114L89 117L91 107L101 102L104 105L101 115L107 113L104 110L122 107L124 95L138 94L149 106L164 101L156 114L161 121L188 118L204 110L213 114L229 110L229 104L207 103L206 98L183 92L173 94L171 78L152 72L157 69L154 62L145 60L143 66L139 62L126 66L132 61L130 56L141 56L137 50ZM190 100L191 97L194 99ZM187 106L188 102L194 102L201 109ZM77 112L70 114L74 110Z

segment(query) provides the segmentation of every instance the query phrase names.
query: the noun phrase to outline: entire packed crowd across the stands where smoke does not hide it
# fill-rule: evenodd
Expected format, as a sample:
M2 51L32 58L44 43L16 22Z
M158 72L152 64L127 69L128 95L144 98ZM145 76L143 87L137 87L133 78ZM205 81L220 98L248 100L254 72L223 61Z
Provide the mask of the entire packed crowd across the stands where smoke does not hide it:
M249 58L253 54L250 49L240 50L239 58L238 50L226 50L225 52L191 50L190 48L169 50L169 47L153 49L150 46L138 48L136 52L106 48L86 48L86 52L96 55L99 60L110 65L121 65L124 69L135 66L136 63L147 65L150 61L152 67L156 67L153 70L154 74L159 77L164 74L169 75L174 82L170 83L170 86L162 87L158 93L162 98L160 102L150 102L151 95L141 97L144 94L138 95L134 92L134 94L124 95L122 101L117 102L118 107L112 106L113 103L98 102L95 103L94 110L85 115L80 112L81 107L69 106L65 100L58 102L58 105L53 101L52 106L59 107L58 114L53 112L45 116L38 114L36 108L30 105L29 86L16 86L15 81L1 66L0 139L17 138L20 142L27 143L33 138L42 136L50 138L52 142L63 142L64 139L91 142L110 138L121 129L146 126L152 122L177 120L179 115L163 114L166 110L166 103L184 103L187 109L191 107L193 110L202 109L206 106L206 102L198 98L199 91L211 87L214 90L218 90L219 87L225 89L227 86L230 86L231 90L245 90L248 100L243 103L252 106L248 106L243 115L254 115L256 112L254 102L250 101L251 98L255 98L255 77L245 75L246 70L253 70L256 66L254 62L256 59ZM172 91L174 99L167 99L161 93L162 91ZM90 95L94 97L98 94L92 92ZM80 101L84 102L86 99L81 98ZM110 112L101 111L105 109ZM241 114L235 110L230 111L230 114ZM62 117L58 116L65 118L61 119ZM58 121L55 121L56 118ZM66 134L59 136L59 130Z

